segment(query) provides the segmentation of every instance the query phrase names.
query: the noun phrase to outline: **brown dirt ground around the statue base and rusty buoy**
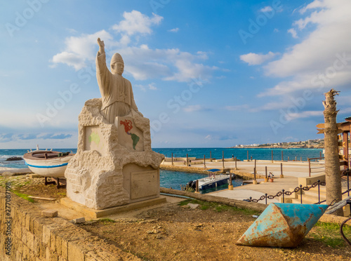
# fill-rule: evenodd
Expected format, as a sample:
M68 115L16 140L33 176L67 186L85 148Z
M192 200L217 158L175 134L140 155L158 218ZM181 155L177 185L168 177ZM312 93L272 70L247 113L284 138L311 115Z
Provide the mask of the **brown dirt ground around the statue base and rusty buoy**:
M65 196L65 189L45 186L42 178L0 177L0 185L6 180L24 194L57 200ZM237 246L255 213L208 203L197 208L180 205L172 203L140 210L134 217L91 220L79 226L142 260L351 260L349 246L326 246L310 236L314 228L294 249Z

